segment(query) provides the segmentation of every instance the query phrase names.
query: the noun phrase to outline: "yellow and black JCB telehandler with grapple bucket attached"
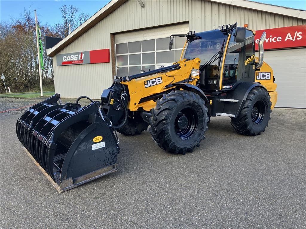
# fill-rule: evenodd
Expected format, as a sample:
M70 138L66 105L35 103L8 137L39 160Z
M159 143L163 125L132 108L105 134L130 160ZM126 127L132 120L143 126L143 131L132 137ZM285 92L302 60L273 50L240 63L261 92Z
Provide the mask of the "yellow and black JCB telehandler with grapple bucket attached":
M263 42L255 57L255 31L222 25L186 37L181 60L168 67L115 77L101 103L81 96L62 104L60 95L29 108L17 121L19 140L58 191L116 171L116 131L140 134L150 125L155 143L185 154L200 146L212 116L229 116L235 131L265 131L277 100ZM257 61L256 61L257 60ZM91 104L81 107L81 98Z

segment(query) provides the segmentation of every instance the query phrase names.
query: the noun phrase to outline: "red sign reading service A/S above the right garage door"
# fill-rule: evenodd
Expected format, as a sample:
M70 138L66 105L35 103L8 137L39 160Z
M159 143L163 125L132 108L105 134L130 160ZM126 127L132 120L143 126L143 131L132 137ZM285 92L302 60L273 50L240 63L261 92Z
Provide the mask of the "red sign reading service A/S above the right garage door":
M263 32L267 34L266 40L263 43L265 50L306 47L306 25L257 30L255 50L258 50L258 42Z

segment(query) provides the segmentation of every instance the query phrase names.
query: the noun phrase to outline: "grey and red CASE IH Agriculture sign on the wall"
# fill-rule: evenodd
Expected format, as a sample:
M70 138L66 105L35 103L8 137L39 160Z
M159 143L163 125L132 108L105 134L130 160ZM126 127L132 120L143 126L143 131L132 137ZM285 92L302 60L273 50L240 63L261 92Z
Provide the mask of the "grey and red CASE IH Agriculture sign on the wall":
M78 53L66 53L56 55L56 63L58 66L75 65L75 64L96 64L109 63L110 50L99 49Z

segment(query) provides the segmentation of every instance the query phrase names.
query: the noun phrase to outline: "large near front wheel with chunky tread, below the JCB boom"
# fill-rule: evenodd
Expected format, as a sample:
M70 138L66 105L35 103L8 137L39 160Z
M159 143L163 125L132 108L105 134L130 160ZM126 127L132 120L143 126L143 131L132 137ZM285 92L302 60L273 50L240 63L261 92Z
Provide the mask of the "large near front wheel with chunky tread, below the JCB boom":
M207 127L205 102L190 91L171 91L157 100L149 119L150 133L162 149L185 154L200 146Z

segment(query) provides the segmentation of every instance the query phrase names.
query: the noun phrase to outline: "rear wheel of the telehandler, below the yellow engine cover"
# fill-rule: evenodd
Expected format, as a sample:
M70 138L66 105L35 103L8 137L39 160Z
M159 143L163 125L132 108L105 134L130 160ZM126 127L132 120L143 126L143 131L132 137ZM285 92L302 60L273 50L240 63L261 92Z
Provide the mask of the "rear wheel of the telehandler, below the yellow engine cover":
M231 124L242 135L260 135L265 131L271 119L271 101L267 90L255 87L248 94L237 118L231 118Z

